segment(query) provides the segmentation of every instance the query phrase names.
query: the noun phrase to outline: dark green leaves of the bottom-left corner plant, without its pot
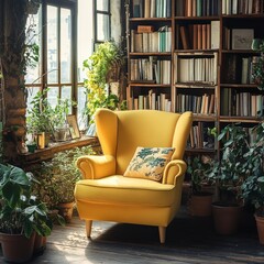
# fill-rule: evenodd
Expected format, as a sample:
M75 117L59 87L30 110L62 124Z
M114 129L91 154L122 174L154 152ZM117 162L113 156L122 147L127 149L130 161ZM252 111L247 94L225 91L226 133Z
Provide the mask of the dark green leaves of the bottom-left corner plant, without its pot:
M46 206L32 195L33 176L23 169L0 164L0 231L24 234L35 231L50 235L53 223Z

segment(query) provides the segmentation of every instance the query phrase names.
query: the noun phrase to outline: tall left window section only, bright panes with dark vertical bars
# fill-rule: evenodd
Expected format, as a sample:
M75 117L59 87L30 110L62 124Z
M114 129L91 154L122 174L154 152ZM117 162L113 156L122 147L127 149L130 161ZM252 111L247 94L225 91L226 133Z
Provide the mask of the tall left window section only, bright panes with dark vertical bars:
M32 97L46 87L50 89L47 97L52 106L56 106L58 97L75 99L75 10L73 3L58 6L51 1L36 15L29 18L29 26L36 24L37 32L29 41L34 41L40 46L41 58L34 69L28 69L25 81L29 88L29 107Z

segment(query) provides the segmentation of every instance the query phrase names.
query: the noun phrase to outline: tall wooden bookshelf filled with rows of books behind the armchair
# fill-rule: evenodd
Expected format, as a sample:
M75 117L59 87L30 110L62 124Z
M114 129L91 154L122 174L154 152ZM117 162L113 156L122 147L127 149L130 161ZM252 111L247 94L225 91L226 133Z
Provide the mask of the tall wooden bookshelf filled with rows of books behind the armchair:
M187 155L219 155L208 134L263 119L252 81L264 0L131 0L127 4L129 109L194 112Z

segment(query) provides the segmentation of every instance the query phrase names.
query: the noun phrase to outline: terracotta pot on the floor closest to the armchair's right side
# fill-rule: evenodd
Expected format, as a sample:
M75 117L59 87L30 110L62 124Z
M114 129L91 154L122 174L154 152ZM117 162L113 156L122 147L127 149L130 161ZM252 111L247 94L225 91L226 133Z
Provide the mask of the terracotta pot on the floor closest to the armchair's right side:
M211 194L193 195L190 198L190 215L194 217L210 217L211 204Z

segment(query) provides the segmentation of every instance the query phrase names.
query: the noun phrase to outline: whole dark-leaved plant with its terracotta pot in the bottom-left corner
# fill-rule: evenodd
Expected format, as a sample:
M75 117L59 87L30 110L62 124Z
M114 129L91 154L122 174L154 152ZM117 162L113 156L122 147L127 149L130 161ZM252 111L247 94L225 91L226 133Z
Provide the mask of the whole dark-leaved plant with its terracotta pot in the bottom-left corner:
M9 262L26 262L33 255L35 234L51 234L46 206L32 196L32 175L0 164L0 242Z

